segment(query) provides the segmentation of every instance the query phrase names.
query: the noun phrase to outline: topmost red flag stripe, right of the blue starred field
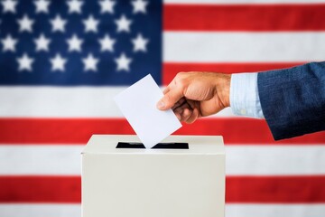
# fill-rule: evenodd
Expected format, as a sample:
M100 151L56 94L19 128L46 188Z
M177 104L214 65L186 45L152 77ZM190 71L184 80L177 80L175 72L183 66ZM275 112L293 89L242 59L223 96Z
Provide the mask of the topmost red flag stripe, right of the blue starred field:
M164 31L323 31L325 4L163 6Z

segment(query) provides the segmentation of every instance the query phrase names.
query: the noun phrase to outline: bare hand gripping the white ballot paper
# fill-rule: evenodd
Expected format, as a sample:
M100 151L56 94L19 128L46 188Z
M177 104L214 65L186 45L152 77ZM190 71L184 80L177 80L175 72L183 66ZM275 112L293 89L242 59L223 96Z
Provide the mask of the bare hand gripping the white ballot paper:
M172 109L186 123L218 113L230 106L230 78L214 72L180 72L163 90L157 108Z

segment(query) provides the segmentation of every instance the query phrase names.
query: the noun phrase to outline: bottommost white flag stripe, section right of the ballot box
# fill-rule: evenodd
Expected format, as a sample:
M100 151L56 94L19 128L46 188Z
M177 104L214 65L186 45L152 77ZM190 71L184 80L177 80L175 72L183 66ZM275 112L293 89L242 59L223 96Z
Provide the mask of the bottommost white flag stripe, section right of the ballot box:
M228 204L227 217L320 217L324 216L324 204Z

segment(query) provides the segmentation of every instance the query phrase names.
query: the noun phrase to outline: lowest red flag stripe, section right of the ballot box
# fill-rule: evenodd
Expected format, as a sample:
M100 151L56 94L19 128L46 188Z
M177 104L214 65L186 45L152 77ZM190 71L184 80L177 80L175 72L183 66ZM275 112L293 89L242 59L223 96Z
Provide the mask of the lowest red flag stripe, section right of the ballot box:
M228 203L324 203L325 175L230 176Z

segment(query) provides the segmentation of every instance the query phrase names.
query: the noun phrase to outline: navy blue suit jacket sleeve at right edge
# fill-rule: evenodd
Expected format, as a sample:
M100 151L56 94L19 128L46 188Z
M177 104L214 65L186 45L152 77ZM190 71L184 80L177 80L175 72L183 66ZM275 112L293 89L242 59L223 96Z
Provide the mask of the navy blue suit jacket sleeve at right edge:
M325 130L325 61L258 73L257 85L275 140Z

